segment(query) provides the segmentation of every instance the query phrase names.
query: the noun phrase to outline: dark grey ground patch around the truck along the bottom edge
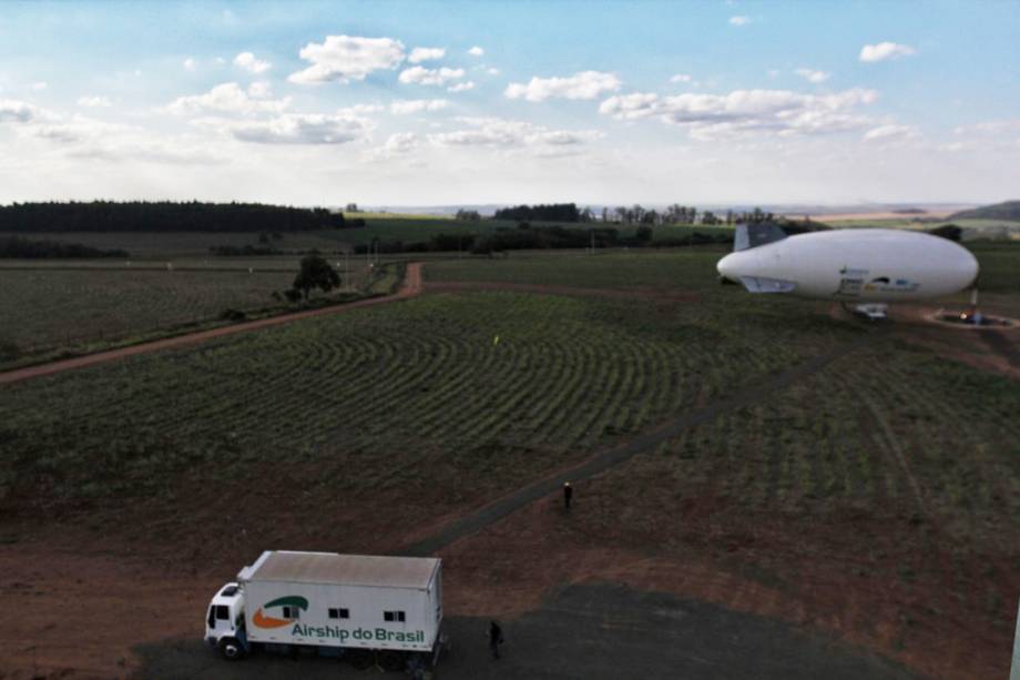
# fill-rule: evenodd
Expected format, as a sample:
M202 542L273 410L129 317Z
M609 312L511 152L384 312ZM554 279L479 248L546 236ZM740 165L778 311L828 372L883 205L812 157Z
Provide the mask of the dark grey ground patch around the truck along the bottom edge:
M779 621L615 585L564 588L542 609L501 623L506 645L496 661L487 647L487 620L448 618L451 648L436 669L437 680L912 677L871 652ZM231 663L201 639L170 640L136 651L143 659L137 673L142 678L374 674L318 657L294 660L261 653Z

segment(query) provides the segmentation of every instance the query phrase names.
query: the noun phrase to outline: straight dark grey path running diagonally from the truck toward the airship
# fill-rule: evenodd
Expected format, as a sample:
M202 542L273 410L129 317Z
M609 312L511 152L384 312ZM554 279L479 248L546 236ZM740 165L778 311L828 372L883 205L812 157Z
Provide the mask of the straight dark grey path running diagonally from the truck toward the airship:
M793 383L806 378L818 371L825 368L834 361L846 356L854 349L857 349L871 338L866 337L853 343L848 343L828 354L816 356L803 364L787 368L777 376L753 385L746 389L741 389L736 396L715 402L704 408L691 412L680 418L670 420L664 425L634 437L626 444L613 447L601 454L595 454L584 463L574 467L561 470L554 475L534 481L522 489L504 496L499 500L483 506L473 512L470 512L458 519L432 536L426 537L410 546L402 554L406 555L432 555L440 549L449 546L456 540L477 534L481 529L496 524L511 512L519 510L540 498L558 491L564 481L580 481L589 479L604 473L613 466L620 465L633 456L646 451L654 446L662 444L677 436L684 429L694 427L702 423L712 420L723 414L731 413L744 406L759 403L768 395L783 389Z

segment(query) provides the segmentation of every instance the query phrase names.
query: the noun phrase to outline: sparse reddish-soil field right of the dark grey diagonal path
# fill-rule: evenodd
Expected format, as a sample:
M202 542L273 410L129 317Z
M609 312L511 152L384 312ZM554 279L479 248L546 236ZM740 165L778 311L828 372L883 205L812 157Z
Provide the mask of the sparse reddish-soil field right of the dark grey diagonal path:
M880 341L593 480L575 529L708 550L781 593L763 611L835 620L934 676L996 677L1020 590L1018 409L1016 380Z

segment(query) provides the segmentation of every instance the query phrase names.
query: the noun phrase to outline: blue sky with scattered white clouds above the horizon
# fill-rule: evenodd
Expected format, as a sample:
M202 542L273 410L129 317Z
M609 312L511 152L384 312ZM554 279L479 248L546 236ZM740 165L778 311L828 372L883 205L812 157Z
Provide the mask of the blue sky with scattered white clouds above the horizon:
M1016 2L0 2L0 202L1020 199Z

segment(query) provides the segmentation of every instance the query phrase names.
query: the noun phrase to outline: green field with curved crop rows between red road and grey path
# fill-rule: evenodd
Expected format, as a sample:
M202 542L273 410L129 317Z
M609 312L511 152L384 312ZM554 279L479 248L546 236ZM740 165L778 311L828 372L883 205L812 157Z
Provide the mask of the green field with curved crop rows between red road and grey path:
M52 503L164 488L220 458L235 474L356 456L375 471L338 484L420 479L414 467L430 460L499 488L848 333L824 316L810 335L763 318L738 328L694 305L427 295L134 357L6 389L3 486L42 485L35 498Z

